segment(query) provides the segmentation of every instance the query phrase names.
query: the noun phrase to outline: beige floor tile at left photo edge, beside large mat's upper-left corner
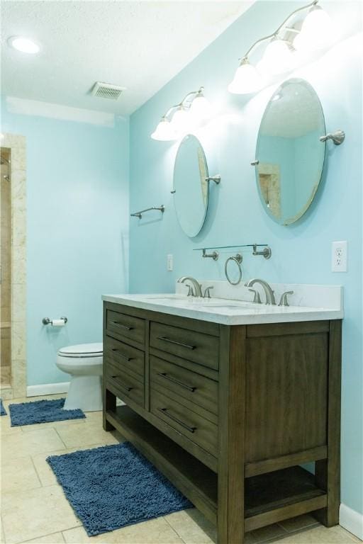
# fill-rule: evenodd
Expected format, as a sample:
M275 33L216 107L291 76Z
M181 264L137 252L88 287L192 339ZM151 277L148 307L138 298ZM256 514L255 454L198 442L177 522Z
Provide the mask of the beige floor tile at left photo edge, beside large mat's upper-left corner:
M40 480L29 457L1 461L1 492L21 491L40 487Z

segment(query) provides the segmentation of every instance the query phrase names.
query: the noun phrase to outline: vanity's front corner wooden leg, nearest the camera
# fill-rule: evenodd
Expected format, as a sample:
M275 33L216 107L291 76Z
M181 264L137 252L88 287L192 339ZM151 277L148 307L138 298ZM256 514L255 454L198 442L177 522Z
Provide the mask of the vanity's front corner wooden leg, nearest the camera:
M246 327L220 327L218 544L243 544L245 533Z

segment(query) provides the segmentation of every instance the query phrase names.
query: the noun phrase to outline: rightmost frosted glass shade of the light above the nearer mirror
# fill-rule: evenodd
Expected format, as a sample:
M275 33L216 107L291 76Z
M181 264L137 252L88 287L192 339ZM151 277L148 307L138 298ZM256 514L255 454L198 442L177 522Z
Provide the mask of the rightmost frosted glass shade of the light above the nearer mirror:
M297 51L325 47L333 40L333 23L320 6L314 6L303 21L301 32L294 39Z

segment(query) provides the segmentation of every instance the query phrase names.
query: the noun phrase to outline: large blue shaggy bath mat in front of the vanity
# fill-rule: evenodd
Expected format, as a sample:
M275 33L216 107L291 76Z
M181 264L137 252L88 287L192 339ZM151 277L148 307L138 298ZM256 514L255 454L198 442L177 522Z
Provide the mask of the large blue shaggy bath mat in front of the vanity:
M130 442L47 461L89 536L192 506Z

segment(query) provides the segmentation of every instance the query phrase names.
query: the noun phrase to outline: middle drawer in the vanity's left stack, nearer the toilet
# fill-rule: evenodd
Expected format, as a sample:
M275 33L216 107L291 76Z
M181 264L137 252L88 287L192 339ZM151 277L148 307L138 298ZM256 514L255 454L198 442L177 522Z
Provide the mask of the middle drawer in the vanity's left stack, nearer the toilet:
M120 340L106 336L104 354L106 361L111 361L120 369L125 369L140 376L145 376L145 353L140 349L124 344Z

